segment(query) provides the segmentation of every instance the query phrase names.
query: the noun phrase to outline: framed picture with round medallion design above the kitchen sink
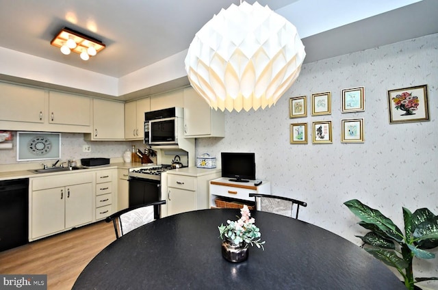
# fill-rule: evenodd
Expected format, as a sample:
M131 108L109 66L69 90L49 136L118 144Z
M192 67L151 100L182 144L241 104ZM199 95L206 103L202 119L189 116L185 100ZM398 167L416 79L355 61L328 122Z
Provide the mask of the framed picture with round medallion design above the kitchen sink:
M60 158L61 133L17 132L17 161Z

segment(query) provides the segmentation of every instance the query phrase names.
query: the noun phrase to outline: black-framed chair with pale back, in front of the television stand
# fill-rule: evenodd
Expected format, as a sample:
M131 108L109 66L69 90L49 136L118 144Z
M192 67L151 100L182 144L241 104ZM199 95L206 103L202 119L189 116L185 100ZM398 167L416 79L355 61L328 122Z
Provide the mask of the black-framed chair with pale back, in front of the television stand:
M294 198L286 198L284 196L272 196L270 194L249 194L255 198L255 208L257 211L268 211L270 213L278 213L290 218L296 205L295 218L298 220L298 211L301 207L307 207L307 202L296 200Z

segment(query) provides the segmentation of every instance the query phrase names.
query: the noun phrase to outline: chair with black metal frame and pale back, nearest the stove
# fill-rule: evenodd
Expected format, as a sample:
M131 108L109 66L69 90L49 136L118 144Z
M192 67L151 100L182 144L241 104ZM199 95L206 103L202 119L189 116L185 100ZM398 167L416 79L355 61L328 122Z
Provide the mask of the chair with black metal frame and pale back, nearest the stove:
M166 200L159 200L157 202L122 209L105 218L105 222L113 222L116 239L118 239L139 226L153 222L155 220L155 207L164 204L166 204Z

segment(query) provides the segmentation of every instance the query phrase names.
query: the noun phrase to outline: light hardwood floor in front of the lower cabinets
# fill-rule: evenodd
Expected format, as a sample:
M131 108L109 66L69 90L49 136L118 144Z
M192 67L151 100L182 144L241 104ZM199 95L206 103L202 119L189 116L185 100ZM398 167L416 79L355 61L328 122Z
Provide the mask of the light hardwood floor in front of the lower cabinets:
M115 239L112 223L75 228L0 252L0 274L47 274L47 289L71 289L83 268Z

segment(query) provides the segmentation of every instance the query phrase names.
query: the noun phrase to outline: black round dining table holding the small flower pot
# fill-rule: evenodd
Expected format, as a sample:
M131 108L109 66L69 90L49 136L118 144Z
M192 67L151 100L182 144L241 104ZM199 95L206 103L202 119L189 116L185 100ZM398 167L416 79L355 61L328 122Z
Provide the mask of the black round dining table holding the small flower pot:
M238 209L190 211L123 235L83 269L73 289L406 289L386 265L334 233L251 211L264 250L222 258L218 226Z

